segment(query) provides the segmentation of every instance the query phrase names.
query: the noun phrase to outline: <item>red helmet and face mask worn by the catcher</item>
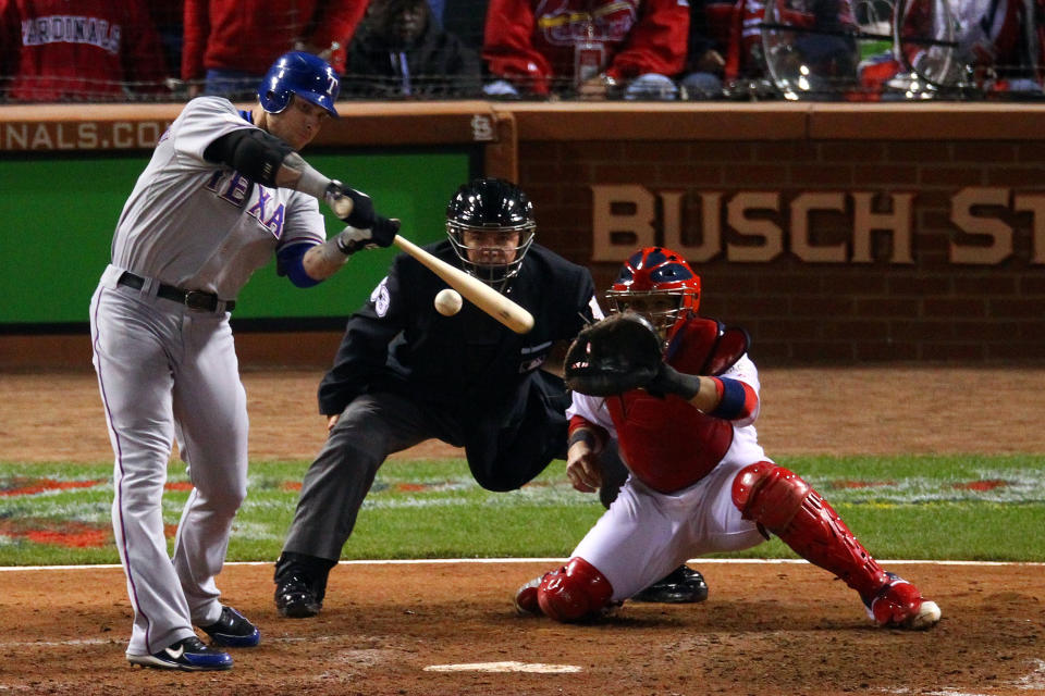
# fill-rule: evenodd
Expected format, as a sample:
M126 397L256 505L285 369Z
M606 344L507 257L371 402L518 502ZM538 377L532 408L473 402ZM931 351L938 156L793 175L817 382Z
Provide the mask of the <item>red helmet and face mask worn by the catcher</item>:
M606 300L611 312L631 310L649 319L666 340L680 319L697 313L700 276L671 249L646 247L620 266Z

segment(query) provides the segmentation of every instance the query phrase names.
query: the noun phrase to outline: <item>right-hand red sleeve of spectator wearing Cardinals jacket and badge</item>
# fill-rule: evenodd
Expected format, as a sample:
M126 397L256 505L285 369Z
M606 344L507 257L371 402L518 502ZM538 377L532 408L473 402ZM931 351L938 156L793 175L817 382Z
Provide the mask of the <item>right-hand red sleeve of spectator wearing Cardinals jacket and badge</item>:
M625 47L613 57L606 74L614 78L643 73L676 75L686 64L689 7L685 0L643 0L642 18Z

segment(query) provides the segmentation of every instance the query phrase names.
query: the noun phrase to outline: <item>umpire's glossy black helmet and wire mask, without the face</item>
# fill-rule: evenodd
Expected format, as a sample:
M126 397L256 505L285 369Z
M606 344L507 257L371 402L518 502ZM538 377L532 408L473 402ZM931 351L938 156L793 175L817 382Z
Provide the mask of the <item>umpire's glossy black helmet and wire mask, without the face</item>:
M518 275L522 257L533 244L537 222L533 203L522 189L502 178L477 178L457 189L446 206L446 236L465 271L499 290ZM468 258L466 232L518 233L515 258L507 263L483 264Z

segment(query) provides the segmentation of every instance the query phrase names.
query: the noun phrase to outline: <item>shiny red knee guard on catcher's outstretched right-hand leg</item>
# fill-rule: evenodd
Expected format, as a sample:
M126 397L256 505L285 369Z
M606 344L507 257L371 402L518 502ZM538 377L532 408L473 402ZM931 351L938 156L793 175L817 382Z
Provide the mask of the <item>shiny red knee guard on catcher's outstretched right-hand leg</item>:
M767 461L745 467L733 480L733 504L743 519L774 533L787 527L809 493L798 474Z

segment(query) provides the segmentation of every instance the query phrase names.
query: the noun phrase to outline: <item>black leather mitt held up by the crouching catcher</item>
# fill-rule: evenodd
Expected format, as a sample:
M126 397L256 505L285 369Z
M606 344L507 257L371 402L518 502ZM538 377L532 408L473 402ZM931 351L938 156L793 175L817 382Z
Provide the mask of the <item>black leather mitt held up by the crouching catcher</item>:
M664 361L653 324L635 312L611 314L586 326L566 351L566 386L590 396L613 396L650 384Z

